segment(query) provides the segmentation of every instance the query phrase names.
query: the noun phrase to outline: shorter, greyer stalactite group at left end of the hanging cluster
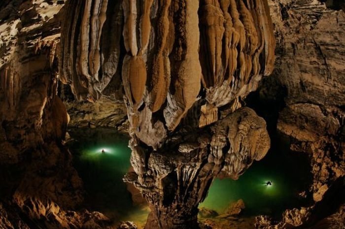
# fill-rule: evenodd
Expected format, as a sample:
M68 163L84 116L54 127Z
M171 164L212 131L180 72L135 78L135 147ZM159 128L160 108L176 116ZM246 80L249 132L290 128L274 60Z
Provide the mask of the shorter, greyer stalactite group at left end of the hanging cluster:
M116 73L120 62L122 2L68 1L66 8L66 17L73 20L65 20L62 25L61 81L71 85L78 99L94 101L113 77L120 77Z

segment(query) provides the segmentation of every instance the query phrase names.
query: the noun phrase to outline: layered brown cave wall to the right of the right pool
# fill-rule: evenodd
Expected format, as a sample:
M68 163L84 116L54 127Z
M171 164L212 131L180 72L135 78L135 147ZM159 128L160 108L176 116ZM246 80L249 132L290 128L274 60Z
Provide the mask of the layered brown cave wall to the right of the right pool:
M323 198L336 196L330 194L334 192L332 186L335 181L341 183L345 175L345 13L330 3L269 1L276 63L270 78L261 82L258 96L262 101L275 101L276 128L290 136L291 149L310 156L313 182L307 194L318 210L290 209L278 225L270 222L261 227L267 223L261 222L258 228L303 228L308 222L315 223L320 212L329 218L319 224L329 228L344 224L344 201L338 196L338 200L325 203ZM319 207L319 202L323 206L337 203L338 207L330 210Z

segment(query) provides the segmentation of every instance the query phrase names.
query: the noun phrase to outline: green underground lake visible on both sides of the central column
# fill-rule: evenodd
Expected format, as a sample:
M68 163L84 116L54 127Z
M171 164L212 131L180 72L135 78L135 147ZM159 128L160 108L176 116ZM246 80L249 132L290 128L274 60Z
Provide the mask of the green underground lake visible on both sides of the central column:
M148 207L134 202L128 191L133 193L133 188L122 181L131 168L129 137L102 128L72 128L69 135L72 140L67 145L86 191L85 206L105 213L115 223L133 221L143 226ZM243 216L266 214L278 218L284 209L309 203L299 195L311 182L309 166L305 154L290 151L288 140L276 136L267 156L254 162L238 180L216 178L200 207L222 214L242 199ZM267 185L268 181L272 185Z

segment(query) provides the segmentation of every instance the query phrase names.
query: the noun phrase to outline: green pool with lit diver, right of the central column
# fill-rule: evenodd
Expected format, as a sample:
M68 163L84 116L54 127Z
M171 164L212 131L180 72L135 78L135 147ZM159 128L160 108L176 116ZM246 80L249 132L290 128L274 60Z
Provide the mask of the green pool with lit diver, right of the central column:
M230 203L243 199L244 215L280 216L287 208L308 204L298 194L311 181L307 155L289 150L289 142L276 137L267 156L254 162L238 179L215 179L201 207L222 213ZM272 185L265 183L271 181Z

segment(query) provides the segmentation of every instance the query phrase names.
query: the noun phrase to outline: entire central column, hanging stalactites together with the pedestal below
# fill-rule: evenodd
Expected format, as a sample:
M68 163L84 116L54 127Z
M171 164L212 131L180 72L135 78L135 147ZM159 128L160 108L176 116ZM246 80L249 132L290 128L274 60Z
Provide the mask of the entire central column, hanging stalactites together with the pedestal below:
M94 101L122 80L125 180L150 205L146 229L197 228L213 178L237 179L270 147L265 122L236 111L273 70L267 0L75 0L66 15L62 81Z

